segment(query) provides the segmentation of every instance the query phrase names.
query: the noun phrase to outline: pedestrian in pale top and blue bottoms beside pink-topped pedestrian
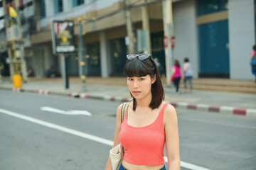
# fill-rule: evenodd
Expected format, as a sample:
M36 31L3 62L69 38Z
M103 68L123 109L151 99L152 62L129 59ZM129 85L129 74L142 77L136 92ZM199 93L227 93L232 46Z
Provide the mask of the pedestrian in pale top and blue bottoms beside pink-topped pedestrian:
M188 58L184 58L183 72L184 72L184 92L186 93L188 91L187 84L186 84L186 81L188 81L190 92L192 93L193 69L192 69L191 63L189 62Z

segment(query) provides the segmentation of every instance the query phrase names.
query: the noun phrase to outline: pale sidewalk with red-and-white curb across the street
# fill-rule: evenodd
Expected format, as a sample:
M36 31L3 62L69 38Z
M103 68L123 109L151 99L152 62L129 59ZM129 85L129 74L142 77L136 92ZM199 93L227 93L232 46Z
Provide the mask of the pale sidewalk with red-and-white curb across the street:
M203 81L203 79L199 81ZM65 89L63 79L61 78L32 78L28 80L27 84L23 84L21 91L80 98L98 98L111 101L131 100L125 77L89 77L85 86L82 86L81 80L78 77L71 77L69 82L70 88ZM235 81L229 81L230 84L232 82L235 84ZM166 96L165 101L177 108L256 116L256 94L193 90L192 94L178 95L174 92L173 87L166 86L164 81L163 84ZM12 86L13 84L9 77L5 77L2 84L0 84L0 89L11 90ZM13 89L13 91L15 90Z

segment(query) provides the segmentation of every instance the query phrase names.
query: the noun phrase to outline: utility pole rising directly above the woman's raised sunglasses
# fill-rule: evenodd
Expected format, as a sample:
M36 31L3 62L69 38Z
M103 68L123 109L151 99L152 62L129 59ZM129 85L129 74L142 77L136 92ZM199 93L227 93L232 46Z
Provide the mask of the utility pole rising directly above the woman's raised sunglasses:
M125 20L126 20L126 27L127 27L127 36L129 38L129 45L128 45L128 53L134 53L134 33L132 30L132 18L131 18L131 9L129 7L129 0L125 0Z

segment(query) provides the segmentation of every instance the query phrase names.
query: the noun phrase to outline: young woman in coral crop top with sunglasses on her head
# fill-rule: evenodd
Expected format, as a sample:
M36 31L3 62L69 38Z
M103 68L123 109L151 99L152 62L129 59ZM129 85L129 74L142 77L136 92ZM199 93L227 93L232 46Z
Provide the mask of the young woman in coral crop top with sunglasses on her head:
M181 169L176 110L164 103L164 89L156 63L150 55L127 55L124 74L133 100L121 123L117 108L114 145L124 147L119 169L164 170L164 145L168 169ZM106 170L112 170L110 158Z

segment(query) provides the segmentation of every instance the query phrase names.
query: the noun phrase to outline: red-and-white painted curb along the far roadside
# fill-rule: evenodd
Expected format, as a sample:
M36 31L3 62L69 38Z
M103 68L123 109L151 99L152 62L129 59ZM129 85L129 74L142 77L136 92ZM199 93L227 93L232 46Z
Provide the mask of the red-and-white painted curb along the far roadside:
M0 89L6 89L10 90L10 88L1 87ZM69 96L73 98L91 98L91 99L100 99L105 101L121 101L121 102L127 102L131 101L132 98L125 98L125 97L119 97L119 96L100 96L95 94L86 94L86 93L58 93L58 92L51 92L48 90L38 89L38 90L28 90L28 89L15 89L11 88L11 91L26 91L26 92L32 92L36 94L41 95L63 95L63 96ZM185 108L185 109L191 109L191 110L198 110L198 111L208 111L212 113L223 113L227 115L244 115L244 116L255 116L256 117L256 109L245 109L245 108L234 108L229 106L210 106L207 104L196 104L196 103L185 103L185 102L174 102L174 101L166 101L166 103L170 103L175 108Z

